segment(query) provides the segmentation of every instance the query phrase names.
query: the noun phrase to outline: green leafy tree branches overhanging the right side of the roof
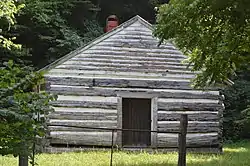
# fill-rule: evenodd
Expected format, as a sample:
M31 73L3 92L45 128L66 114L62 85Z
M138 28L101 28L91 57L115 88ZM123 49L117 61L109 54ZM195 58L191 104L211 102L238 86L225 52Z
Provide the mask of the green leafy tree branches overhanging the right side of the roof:
M189 56L196 87L224 83L250 63L249 0L171 0L157 15L155 35Z

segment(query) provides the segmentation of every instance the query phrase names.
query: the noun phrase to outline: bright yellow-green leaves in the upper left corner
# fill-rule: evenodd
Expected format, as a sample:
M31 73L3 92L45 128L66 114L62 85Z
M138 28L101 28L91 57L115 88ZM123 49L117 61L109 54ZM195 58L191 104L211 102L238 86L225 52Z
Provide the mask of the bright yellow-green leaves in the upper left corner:
M3 34L10 29L10 26L15 24L15 14L23 8L23 4L16 5L14 0L0 1L0 47L11 49L11 47L20 48L21 45L14 44L15 37L6 38ZM7 23L7 26L5 24Z

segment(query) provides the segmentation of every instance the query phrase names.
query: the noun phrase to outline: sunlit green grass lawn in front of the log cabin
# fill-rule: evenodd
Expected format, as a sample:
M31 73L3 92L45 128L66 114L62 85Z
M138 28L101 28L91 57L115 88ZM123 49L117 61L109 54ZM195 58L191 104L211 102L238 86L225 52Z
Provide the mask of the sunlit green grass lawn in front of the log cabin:
M39 166L108 166L108 151L41 154L37 155ZM176 166L177 153L149 154L115 152L113 165L116 166ZM223 155L188 154L190 166L250 166L250 142L226 145ZM0 166L17 166L17 159L0 157Z

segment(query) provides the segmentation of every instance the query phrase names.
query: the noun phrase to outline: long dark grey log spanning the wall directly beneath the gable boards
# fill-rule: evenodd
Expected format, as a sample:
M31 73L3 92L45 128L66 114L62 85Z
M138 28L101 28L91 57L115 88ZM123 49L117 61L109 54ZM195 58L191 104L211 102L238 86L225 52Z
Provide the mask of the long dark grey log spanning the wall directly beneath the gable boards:
M136 79L136 78L86 78L86 77L47 77L47 82L57 85L71 86L96 86L96 87L140 87L140 88L155 88L155 89L192 89L190 81L186 80L171 80L171 79Z

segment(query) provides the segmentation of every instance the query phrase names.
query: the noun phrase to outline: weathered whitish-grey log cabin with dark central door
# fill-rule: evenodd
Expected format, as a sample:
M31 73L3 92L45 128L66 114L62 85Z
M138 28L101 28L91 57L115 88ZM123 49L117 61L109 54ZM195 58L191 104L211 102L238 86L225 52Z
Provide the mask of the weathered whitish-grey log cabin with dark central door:
M114 21L114 20L112 20ZM195 72L172 43L152 35L140 16L45 67L46 90L58 95L48 116L49 147L175 149L188 114L187 148L222 151L222 96L191 87ZM149 132L158 131L158 132Z

